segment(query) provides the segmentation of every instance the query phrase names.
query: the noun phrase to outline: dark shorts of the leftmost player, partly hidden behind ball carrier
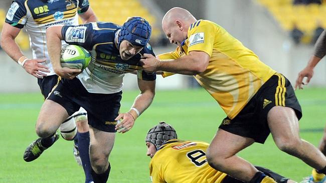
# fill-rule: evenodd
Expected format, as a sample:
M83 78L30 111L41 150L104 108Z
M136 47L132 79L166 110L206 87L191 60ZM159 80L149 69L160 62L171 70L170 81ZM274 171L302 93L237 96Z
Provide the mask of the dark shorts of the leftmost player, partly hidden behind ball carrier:
M49 93L52 91L53 87L58 84L58 77L58 75L54 74L37 79L37 83L40 86L44 99L49 96Z

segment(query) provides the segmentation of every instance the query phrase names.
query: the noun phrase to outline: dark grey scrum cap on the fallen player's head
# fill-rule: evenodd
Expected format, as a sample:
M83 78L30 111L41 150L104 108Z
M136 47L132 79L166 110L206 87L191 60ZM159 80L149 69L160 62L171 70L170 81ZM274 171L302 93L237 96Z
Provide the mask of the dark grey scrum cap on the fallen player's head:
M149 129L145 141L154 144L157 150L168 140L176 138L178 138L176 130L165 121L160 121L159 124Z

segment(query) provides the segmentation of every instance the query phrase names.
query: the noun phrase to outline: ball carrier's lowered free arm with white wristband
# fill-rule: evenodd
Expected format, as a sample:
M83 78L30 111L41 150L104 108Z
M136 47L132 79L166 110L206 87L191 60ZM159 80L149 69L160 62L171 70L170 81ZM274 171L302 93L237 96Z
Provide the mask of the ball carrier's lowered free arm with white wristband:
M121 120L115 126L115 130L118 132L127 132L130 130L136 120L136 118L150 105L153 101L155 95L155 80L147 81L138 79L138 87L140 89L140 93L135 98L131 109L128 112L120 113L115 120Z

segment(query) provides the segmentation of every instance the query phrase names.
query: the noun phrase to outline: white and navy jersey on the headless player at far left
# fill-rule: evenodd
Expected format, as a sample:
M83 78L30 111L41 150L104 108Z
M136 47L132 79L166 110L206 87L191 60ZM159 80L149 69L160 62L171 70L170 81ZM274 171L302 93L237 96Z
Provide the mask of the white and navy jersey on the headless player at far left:
M77 12L83 13L88 7L88 0L14 0L6 15L6 22L18 28L25 26L30 36L33 58L46 59L42 63L50 69L46 74L53 75L55 72L46 45L46 28L58 24L77 25Z

